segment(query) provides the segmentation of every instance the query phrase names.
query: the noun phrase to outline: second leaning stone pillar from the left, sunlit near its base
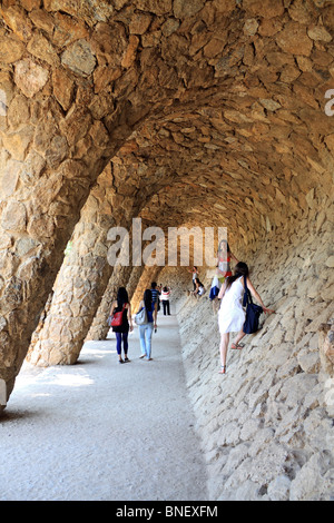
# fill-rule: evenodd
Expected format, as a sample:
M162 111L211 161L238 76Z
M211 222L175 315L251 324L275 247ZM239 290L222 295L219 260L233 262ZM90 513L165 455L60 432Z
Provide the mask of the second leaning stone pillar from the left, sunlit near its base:
M110 166L99 176L76 226L71 250L57 277L52 302L27 358L39 366L73 364L112 274L107 235L116 225ZM116 209L120 220L121 210Z

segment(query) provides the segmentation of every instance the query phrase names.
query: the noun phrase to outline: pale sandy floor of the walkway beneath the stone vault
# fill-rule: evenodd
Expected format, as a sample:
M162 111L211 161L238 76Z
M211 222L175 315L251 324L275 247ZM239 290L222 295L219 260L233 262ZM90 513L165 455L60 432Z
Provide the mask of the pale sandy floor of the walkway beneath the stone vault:
M27 364L0 421L1 501L205 501L176 316L158 317L151 362L115 339L73 366Z

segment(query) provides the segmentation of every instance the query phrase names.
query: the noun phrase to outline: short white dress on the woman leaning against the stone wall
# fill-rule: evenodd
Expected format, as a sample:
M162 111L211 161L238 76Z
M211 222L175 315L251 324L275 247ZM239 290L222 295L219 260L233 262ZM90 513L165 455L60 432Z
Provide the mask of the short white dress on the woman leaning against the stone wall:
M244 292L243 276L236 279L225 292L218 313L220 334L242 330L246 316L243 309Z

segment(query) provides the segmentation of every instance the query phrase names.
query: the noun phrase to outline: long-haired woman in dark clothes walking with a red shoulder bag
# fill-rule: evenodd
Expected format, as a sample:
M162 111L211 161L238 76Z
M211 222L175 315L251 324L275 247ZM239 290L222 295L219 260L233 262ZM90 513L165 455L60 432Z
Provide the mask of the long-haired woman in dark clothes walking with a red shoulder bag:
M119 287L117 292L117 299L111 304L110 316L114 313L122 313L122 323L119 327L112 327L112 332L116 334L116 349L118 354L119 363L128 363L128 334L129 330L134 330L131 305L129 304L128 293L125 287ZM121 346L124 349L124 359L121 357Z

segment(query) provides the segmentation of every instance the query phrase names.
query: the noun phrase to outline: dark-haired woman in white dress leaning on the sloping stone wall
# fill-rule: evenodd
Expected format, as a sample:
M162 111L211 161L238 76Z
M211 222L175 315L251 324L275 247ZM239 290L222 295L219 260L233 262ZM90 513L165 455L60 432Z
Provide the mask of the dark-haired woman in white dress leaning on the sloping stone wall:
M234 269L234 276L226 278L218 298L222 299L218 325L220 332L220 371L219 374L226 373L226 355L229 343L229 333L238 333L235 342L230 348L243 348L239 344L240 339L245 336L243 326L245 323L246 313L243 309L243 297L245 293L244 276L246 276L247 287L252 296L261 304L264 313L273 313L269 308L264 306L259 294L255 290L249 277L248 267L244 262L239 262Z

